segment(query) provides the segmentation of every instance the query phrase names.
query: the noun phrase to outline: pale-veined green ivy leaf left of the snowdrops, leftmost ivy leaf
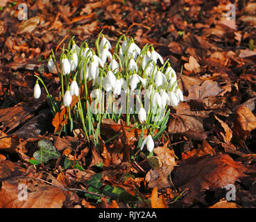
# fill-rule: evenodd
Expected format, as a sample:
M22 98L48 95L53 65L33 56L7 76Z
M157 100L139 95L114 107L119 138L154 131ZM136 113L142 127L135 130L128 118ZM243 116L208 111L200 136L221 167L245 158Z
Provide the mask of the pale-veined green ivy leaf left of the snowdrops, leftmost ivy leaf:
M33 154L33 157L38 162L44 164L44 163L48 162L49 160L58 159L58 157L60 157L60 155L56 151L56 148L53 146L51 141L46 140L46 139L41 139L38 142L38 146L39 146L40 150L36 151Z

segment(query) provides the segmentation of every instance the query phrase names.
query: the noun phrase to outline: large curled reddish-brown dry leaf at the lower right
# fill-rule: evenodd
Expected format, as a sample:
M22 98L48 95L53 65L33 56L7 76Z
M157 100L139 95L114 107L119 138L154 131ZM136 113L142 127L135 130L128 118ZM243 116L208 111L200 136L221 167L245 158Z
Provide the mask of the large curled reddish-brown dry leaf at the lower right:
M234 184L245 170L241 163L234 162L229 155L191 157L173 169L173 184L182 190L189 189L185 203L192 203L194 199L204 202L200 192Z

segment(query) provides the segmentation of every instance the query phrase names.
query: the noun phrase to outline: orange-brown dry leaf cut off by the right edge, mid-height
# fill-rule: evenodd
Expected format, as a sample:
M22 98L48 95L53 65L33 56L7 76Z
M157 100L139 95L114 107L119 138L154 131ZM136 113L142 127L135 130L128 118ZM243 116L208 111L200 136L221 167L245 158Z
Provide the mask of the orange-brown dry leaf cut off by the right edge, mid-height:
M246 106L237 108L234 114L233 133L238 138L245 140L250 131L256 128L256 117Z

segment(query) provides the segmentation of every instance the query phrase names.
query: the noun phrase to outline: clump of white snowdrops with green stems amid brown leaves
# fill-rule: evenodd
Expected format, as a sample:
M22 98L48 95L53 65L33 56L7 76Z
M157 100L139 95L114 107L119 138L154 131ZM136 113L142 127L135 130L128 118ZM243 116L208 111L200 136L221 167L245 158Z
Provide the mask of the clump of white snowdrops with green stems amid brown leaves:
M73 37L67 49L63 46L60 66L52 51L47 67L50 72L54 67L58 71L62 105L69 111L70 130L75 123L81 122L87 139L92 136L95 143L100 134L101 119L117 122L124 117L128 125L133 119L137 128L148 129L148 136L141 137L139 147L143 149L146 144L151 153L154 139L161 137L166 128L169 108L183 101L176 71L168 60L164 62L152 45L140 48L133 38L125 35L112 46L100 33L96 50L86 41L76 45ZM35 98L40 94L37 83ZM134 99L138 99L136 103Z

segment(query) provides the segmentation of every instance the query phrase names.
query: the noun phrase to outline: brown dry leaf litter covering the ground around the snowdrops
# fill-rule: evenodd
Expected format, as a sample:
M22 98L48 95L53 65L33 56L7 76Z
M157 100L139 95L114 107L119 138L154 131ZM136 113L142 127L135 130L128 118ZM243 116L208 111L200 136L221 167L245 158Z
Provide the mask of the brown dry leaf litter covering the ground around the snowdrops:
M33 1L17 22L14 1L1 2L0 207L256 207L255 3L237 5L235 21L222 16L228 3ZM67 110L53 116L32 99L34 74L60 89L46 69L51 48L60 56L69 37L95 40L102 29L113 43L123 33L152 43L178 70L185 100L151 157L134 153L142 131L125 122L103 121L99 148L80 129L59 135Z

